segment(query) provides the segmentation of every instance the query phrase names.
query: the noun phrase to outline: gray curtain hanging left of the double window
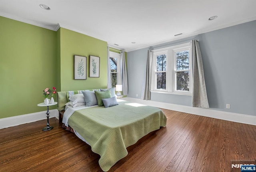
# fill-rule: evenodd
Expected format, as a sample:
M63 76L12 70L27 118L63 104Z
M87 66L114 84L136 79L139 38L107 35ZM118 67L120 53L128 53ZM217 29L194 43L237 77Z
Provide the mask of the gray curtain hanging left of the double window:
M142 100L150 100L150 88L151 88L151 67L152 67L152 59L153 59L153 51L148 50L148 59L147 59L147 67L146 67L146 75L145 80L142 85Z

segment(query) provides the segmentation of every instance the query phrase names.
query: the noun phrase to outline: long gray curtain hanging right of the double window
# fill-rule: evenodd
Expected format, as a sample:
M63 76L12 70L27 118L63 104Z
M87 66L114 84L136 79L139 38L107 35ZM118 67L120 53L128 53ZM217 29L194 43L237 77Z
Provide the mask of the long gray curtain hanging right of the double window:
M202 55L197 40L192 40L191 50L193 57L193 89L192 89L192 106L209 108L204 82L204 69Z

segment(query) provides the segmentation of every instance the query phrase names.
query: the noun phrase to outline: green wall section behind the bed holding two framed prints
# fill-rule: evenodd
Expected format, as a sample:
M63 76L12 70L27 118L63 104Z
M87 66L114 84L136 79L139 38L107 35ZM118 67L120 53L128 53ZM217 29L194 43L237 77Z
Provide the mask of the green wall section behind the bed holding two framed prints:
M107 42L60 28L61 91L107 87ZM74 55L87 57L87 79L74 80ZM90 55L100 57L100 77L89 77Z

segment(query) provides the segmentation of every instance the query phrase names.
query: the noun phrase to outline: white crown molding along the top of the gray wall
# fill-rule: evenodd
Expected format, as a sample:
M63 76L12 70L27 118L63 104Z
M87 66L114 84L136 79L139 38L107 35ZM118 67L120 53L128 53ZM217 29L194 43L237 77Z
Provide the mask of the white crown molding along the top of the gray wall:
M202 31L198 31L198 32L193 32L193 33L190 33L190 34L182 34L181 36L178 36L178 37L175 37L175 38L166 39L166 40L162 40L162 41L159 41L159 42L152 42L152 43L146 44L146 45L138 47L138 48L127 49L127 52L135 51L135 50L142 49L142 48L147 48L147 47L154 46L154 45L159 45L159 44L162 44L162 43L167 43L167 42L172 42L172 41L176 41L176 40L181 40L183 38L188 38L188 37L191 37L191 36L196 36L196 35L199 35L199 34L204 34L204 33L212 32L212 31L215 31L215 30L219 30L219 29L223 29L223 28L228 28L228 27L235 26L235 25L238 25L238 24L243 24L243 23L246 23L246 22L251 22L253 20L256 20L256 17L248 18L246 20L240 20L238 22L233 22L233 23L225 24L225 25L218 26L218 27L215 27L215 28L210 28L210 29L206 29L206 30L202 30Z

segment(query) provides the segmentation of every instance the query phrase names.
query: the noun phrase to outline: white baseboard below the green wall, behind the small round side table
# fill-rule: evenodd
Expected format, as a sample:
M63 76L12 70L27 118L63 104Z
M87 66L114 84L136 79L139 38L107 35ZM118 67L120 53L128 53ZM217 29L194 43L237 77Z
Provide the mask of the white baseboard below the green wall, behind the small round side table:
M57 109L52 109L49 112L50 112L49 118L53 118L53 117L59 118ZM47 119L46 111L30 113L30 114L25 114L25 115L18 115L15 117L2 118L2 119L0 119L0 129L13 127L16 125L21 125L21 124L26 124L26 123L31 123L34 121L40 121L43 119Z

